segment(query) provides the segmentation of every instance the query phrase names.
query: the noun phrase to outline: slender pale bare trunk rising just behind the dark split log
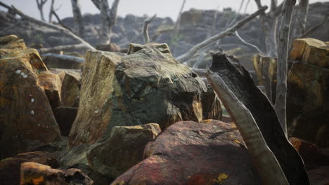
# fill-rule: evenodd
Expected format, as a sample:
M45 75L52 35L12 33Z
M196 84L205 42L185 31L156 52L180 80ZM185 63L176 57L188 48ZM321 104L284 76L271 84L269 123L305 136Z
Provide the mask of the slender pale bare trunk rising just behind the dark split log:
M278 119L286 137L288 137L286 116L288 47L292 9L295 4L296 0L285 0L285 3L283 4L278 39L276 104L274 109L276 110L276 114L278 115Z

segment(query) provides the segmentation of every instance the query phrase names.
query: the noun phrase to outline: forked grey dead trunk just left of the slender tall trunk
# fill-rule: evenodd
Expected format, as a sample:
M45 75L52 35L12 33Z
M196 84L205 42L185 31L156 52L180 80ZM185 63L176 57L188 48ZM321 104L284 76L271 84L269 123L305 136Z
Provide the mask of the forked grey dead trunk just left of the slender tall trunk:
M254 0L258 8L262 7L261 0ZM280 6L278 0L271 0L269 13L262 12L259 14L259 20L265 35L266 55L276 57L276 27L278 25L278 15L280 15Z

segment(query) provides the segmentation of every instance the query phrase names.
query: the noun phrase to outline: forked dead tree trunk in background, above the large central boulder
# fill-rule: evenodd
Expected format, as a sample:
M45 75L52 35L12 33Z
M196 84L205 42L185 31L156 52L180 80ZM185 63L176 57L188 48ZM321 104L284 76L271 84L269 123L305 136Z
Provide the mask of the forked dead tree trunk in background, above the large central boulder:
M101 41L103 43L110 43L110 36L112 27L117 21L117 6L120 0L115 0L111 9L108 6L108 0L91 0L93 4L101 11L102 27L101 27Z

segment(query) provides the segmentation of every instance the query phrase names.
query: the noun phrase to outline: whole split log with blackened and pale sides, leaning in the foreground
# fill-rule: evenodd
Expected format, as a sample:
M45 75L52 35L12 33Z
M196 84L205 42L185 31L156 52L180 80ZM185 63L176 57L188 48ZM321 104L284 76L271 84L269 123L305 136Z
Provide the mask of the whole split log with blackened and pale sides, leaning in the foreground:
M236 123L264 184L309 184L302 158L247 69L223 51L212 57L208 81Z

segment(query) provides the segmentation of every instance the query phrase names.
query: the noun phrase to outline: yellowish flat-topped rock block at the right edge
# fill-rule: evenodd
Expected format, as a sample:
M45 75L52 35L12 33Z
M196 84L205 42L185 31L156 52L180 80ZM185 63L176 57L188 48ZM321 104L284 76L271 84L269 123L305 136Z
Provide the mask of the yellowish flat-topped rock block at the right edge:
M329 69L329 45L317 39L295 39L290 59Z

